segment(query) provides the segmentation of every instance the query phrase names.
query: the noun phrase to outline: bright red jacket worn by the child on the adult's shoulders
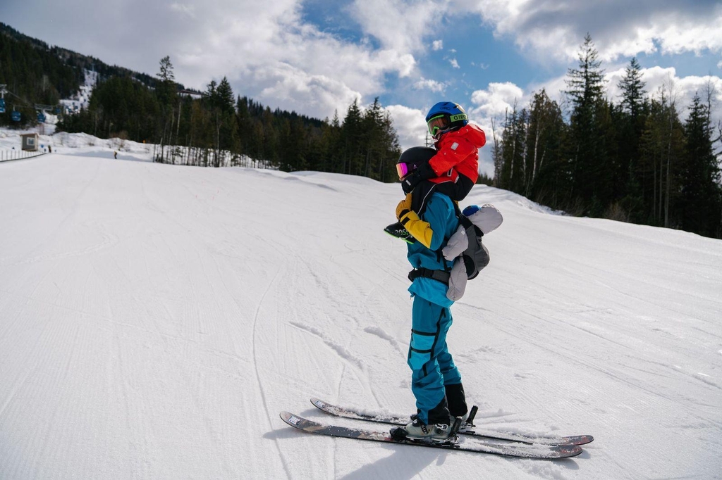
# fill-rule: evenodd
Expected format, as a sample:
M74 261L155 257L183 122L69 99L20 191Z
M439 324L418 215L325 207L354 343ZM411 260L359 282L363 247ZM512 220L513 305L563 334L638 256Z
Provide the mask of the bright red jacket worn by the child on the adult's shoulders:
M449 177L456 182L458 174L468 177L476 183L479 178L479 148L487 143L487 136L479 125L469 123L466 126L444 133L435 143L438 150L429 160L429 165L440 181L446 182ZM449 170L454 169L458 174ZM436 179L432 179L434 182ZM438 181L438 180L437 180Z

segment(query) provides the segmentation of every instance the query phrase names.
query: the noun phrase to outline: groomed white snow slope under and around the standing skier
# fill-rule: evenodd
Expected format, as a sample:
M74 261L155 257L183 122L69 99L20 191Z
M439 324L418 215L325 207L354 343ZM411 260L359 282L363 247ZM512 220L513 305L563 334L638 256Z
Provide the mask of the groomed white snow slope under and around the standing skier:
M71 152L0 164L1 479L722 478L722 241L477 186L505 222L449 343L478 419L596 441L316 437L279 412L414 411L399 186Z

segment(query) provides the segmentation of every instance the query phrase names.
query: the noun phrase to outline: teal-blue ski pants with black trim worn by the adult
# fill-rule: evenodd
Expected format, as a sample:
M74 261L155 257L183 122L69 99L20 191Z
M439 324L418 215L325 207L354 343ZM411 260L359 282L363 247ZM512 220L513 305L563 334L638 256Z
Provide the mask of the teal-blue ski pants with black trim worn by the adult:
M461 383L461 373L446 347L446 333L451 323L449 308L414 296L408 363L419 419L426 424L429 411L445 397L444 385Z

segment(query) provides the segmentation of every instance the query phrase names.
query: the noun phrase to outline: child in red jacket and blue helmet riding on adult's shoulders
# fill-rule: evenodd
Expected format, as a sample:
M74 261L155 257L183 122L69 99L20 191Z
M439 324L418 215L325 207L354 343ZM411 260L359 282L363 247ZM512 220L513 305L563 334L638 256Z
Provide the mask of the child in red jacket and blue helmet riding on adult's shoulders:
M411 197L411 210L418 215L424 213L433 192L456 202L469 195L479 178L479 148L487 142L484 130L469 123L458 103L438 102L427 113L426 123L436 154L419 164L396 164L401 187L406 197ZM403 222L392 223L384 231L409 242L420 240L409 234Z

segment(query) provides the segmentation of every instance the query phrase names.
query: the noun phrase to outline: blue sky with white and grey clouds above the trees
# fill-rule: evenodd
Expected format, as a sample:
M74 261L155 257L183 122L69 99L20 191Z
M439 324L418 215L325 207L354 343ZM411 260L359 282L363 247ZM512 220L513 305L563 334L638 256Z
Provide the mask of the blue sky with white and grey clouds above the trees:
M170 55L182 84L225 76L272 109L343 119L378 97L402 148L425 141L436 102L458 102L489 138L493 118L541 88L563 103L586 33L612 99L633 56L651 96L670 81L682 107L708 83L722 92L722 2L711 0L4 0L0 21L148 74Z

